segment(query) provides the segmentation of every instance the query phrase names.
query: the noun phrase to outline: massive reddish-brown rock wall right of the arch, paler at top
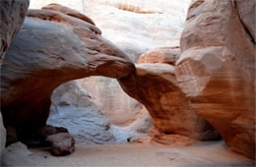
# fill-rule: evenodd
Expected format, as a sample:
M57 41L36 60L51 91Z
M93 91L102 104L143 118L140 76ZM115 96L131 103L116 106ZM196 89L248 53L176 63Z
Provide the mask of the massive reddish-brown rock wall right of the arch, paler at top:
M237 5L214 0L191 4L175 75L197 114L232 150L255 158L255 45L244 27L255 14L240 7L255 1Z

